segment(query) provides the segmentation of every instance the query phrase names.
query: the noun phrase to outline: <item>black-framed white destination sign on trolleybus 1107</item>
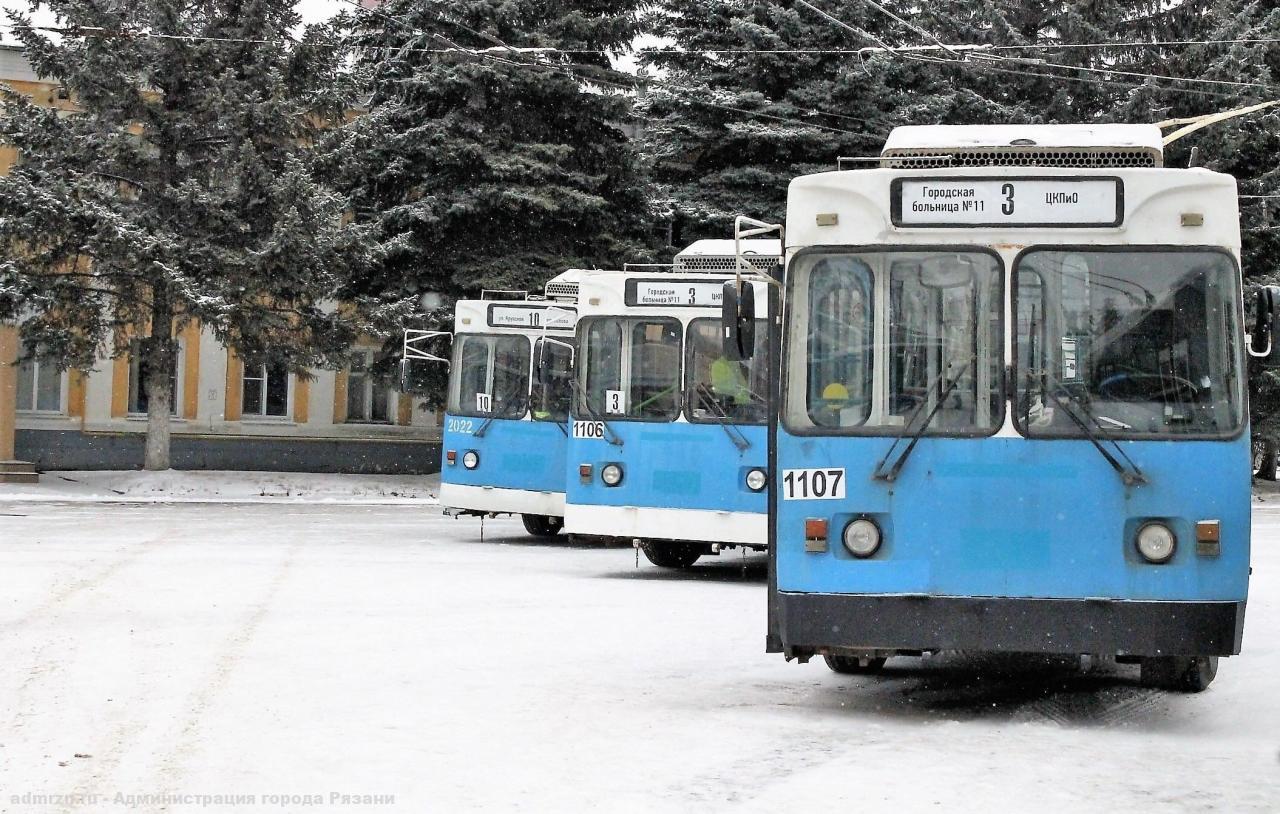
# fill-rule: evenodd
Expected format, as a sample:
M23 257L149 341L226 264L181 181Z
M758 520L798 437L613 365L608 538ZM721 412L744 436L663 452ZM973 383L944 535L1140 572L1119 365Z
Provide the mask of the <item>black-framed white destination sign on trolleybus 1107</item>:
M1119 227L1119 178L899 178L897 227Z

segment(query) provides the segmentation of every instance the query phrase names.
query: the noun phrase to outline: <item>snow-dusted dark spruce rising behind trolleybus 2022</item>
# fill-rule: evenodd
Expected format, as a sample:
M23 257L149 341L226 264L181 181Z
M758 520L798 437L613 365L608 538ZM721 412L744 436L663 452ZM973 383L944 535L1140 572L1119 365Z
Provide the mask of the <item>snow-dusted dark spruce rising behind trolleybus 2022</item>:
M347 20L367 110L326 146L387 250L371 291L536 289L640 250L634 77L609 55L641 5L388 0Z

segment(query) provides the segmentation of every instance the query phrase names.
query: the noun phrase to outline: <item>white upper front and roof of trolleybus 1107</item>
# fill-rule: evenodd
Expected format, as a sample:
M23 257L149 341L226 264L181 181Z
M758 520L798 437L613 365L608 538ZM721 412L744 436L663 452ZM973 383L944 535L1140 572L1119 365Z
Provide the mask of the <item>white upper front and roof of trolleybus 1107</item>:
M786 225L788 251L968 243L1011 259L1036 243L1238 255L1240 243L1235 179L1164 168L1160 131L1146 124L900 127L859 169L794 179Z

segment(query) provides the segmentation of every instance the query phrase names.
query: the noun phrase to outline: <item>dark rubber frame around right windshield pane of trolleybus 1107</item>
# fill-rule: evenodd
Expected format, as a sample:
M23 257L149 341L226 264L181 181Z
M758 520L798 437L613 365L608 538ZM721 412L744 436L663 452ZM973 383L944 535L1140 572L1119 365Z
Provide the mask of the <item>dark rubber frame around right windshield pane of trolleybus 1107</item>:
M1016 407L1016 404L1019 402L1020 393L1021 393L1021 388L1020 388L1019 383L1021 381L1021 376L1023 376L1023 372L1024 372L1021 370L1020 365L1019 365L1019 355L1020 355L1019 333L1018 333L1018 273L1020 270L1019 266L1023 264L1023 260L1025 259L1027 255L1032 255L1032 253L1037 253L1037 252L1055 252L1055 251L1057 251L1057 252L1082 252L1082 253L1128 253L1128 255L1133 255L1133 253L1153 253L1153 255L1155 253L1162 253L1162 255L1169 255L1169 253L1196 253L1196 252L1198 252L1198 253L1221 255L1222 257L1225 257L1228 260L1228 262L1230 264L1230 267L1231 267L1231 275L1230 275L1230 280L1229 280L1230 287L1231 287L1231 291L1230 291L1231 302L1235 305L1235 307L1240 308L1236 312L1236 316L1239 319L1234 320L1234 328L1236 330L1236 335L1234 337L1234 343L1235 343L1235 347L1234 347L1235 353L1234 353L1234 356L1235 356L1235 358L1231 360L1231 363L1235 365L1235 371L1236 371L1236 376L1235 376L1235 379L1236 379L1235 398L1238 399L1238 406L1239 406L1239 411L1240 411L1239 412L1240 421L1239 421L1238 426L1234 430L1228 431L1228 433L1176 433L1176 434L1169 433L1169 434L1157 434L1157 433L1134 433L1134 431L1125 431L1125 430L1100 430L1097 433L1097 435L1098 435L1100 439L1105 439L1105 440L1115 439L1115 440L1158 442L1158 443L1164 443L1164 442L1183 442L1183 440L1215 440L1215 442L1221 442L1221 440L1234 440L1234 439L1239 438L1244 431L1248 430L1248 426L1249 426L1249 388L1248 388L1248 360L1244 357L1244 310L1243 310L1243 306L1242 306L1242 303L1244 301L1243 299L1244 294L1243 294L1243 280L1242 280L1242 276L1240 276L1242 275L1240 261L1231 252L1231 250L1229 250L1226 247L1222 247L1222 246L1193 246L1193 244L1170 246L1170 244L1143 244L1143 243L1133 243L1133 244L1126 244L1126 246L1119 246L1119 244L1115 244L1115 243L1108 243L1108 244L1043 243L1043 244L1028 246L1028 247L1023 248L1021 251L1019 251L1018 255L1014 256L1014 260L1012 260L1012 262L1009 266L1009 274L1007 274L1007 278L1009 278L1009 291L1010 291L1010 294L1011 294L1011 302L1010 302L1010 317L1011 317L1010 325L1011 325L1011 329L1009 330L1009 347L1010 347L1010 356L1011 356L1011 358L1009 360L1009 370L1011 371L1011 375L1012 375L1012 383L1011 383L1011 387L1007 388L1009 393L1011 394L1011 401L1010 399L1006 399L1006 401L1009 401L1009 403L1012 407ZM1091 421L1096 420L1093 417L1093 413L1091 413L1091 411L1085 410L1083 406L1080 407L1079 412L1083 413L1083 417L1085 417L1085 419L1088 419ZM1018 435L1020 438L1023 438L1023 439L1027 439L1027 440L1034 440L1034 442L1061 442L1061 440L1079 442L1079 440L1087 440L1087 436L1083 433L1080 433L1079 430L1076 430L1074 433L1068 431L1068 433L1028 434L1027 424L1019 416L1019 411L1016 408L1014 408L1011 411L1010 419L1011 419L1011 424L1014 426L1014 430L1018 433Z

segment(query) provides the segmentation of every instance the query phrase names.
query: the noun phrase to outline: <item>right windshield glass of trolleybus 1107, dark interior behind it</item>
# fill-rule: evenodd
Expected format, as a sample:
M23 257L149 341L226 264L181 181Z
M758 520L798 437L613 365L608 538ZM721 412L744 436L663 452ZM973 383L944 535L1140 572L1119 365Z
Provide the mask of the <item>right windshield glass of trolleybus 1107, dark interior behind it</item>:
M1234 435L1244 420L1240 292L1204 250L1025 252L1014 269L1019 431Z

